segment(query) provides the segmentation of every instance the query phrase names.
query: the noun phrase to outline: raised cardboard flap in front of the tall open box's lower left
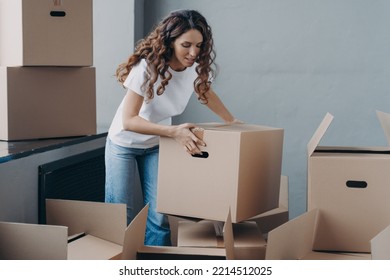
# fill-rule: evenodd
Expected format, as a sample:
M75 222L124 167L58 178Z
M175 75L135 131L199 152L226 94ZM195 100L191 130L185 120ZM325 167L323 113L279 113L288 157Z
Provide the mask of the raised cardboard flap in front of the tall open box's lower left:
M311 210L268 233L267 260L298 260L312 252L318 209Z

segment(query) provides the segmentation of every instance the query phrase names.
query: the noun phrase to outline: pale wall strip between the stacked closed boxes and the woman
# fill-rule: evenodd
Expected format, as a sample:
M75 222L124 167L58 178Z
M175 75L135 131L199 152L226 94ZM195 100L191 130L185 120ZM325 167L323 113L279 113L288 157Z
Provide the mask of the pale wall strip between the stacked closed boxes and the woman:
M117 66L134 50L134 0L93 1L93 58L96 67L97 125L107 131L122 101Z

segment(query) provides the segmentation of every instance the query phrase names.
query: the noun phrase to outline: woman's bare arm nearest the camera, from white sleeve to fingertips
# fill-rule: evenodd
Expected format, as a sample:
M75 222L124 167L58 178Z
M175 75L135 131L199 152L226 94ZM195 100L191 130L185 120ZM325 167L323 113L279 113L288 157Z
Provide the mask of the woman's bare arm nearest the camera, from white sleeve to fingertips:
M191 132L195 124L160 125L139 116L144 98L132 90L128 90L123 104L123 129L140 134L158 135L174 138L191 154L201 153L197 145L205 143Z

